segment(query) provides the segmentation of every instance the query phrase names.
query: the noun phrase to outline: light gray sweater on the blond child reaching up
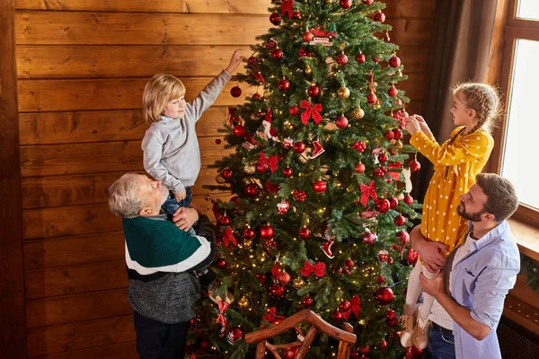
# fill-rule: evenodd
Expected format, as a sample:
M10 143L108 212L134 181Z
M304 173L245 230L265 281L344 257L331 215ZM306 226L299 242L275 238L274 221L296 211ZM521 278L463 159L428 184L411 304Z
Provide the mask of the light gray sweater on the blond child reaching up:
M165 118L153 123L142 140L144 169L155 180L178 193L195 184L200 171L200 149L195 123L215 101L231 79L226 70L218 74L185 107L183 118Z

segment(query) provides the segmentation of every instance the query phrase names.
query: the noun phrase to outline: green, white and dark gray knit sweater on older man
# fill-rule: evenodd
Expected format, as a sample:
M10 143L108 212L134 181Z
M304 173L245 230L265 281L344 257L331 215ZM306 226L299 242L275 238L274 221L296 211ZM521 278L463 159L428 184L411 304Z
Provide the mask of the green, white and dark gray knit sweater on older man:
M193 271L215 258L212 224L201 215L197 236L166 215L123 218L128 266L128 301L142 316L167 324L190 320L200 297Z

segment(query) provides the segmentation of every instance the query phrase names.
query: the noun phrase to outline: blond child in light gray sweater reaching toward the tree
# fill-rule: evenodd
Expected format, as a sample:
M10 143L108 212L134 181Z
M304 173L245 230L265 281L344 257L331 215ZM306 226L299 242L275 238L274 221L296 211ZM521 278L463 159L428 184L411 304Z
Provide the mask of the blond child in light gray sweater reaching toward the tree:
M234 51L230 64L192 102L184 100L185 87L172 74L155 74L142 95L144 118L150 127L142 140L144 169L170 189L163 211L172 215L189 207L191 186L199 176L200 151L195 123L215 101L231 73L243 61ZM185 229L187 230L187 228Z

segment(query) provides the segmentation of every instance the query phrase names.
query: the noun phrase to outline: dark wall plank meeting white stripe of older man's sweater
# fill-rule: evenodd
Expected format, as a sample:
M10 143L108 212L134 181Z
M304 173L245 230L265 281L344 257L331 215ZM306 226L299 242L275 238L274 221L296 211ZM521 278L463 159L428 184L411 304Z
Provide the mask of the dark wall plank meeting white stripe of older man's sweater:
M123 242L123 241L122 241ZM26 299L105 291L128 286L124 258L82 266L34 269L24 272ZM30 320L28 320L30 323Z

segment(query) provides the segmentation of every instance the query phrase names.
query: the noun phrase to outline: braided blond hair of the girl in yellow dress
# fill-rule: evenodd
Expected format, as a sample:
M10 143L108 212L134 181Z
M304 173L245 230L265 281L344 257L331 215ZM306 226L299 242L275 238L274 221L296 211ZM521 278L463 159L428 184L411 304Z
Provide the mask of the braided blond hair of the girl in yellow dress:
M488 83L458 83L453 87L453 95L462 95L461 101L468 109L475 110L477 125L475 125L470 134L483 128L492 132L497 126L497 120L501 112L501 101L498 91ZM462 134L466 128L458 131L451 137L451 142L457 136Z

